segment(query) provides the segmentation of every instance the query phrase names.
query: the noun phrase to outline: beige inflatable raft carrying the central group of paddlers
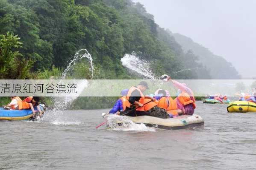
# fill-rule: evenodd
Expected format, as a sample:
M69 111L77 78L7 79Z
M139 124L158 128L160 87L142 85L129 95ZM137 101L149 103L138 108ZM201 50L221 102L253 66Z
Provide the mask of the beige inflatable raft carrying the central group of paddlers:
M185 129L189 127L202 126L204 124L203 118L199 115L182 115L177 116L171 119L161 119L152 116L137 116L130 117L124 116L125 118L130 119L134 123L145 124L149 127L157 127L159 129ZM122 120L118 120L117 123L121 126ZM108 123L107 123L108 127Z

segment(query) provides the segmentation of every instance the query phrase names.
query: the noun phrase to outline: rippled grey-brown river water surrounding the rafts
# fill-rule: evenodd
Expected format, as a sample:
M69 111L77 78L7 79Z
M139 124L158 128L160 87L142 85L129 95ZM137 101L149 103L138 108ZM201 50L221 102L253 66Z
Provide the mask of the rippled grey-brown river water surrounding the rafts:
M46 113L40 122L0 122L0 170L253 170L254 113L197 102L204 127L106 130L100 113Z

